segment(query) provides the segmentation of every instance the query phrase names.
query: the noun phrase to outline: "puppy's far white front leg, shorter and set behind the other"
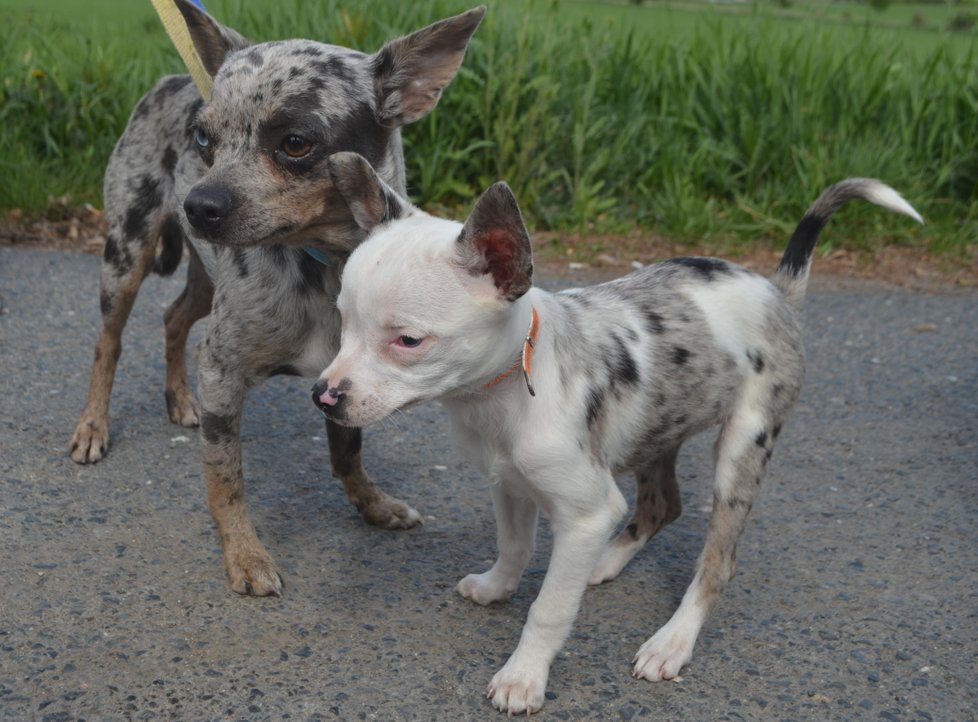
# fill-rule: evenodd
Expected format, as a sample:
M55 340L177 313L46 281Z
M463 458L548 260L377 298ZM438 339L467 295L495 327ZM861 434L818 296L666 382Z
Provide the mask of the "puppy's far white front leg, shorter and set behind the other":
M503 602L513 596L536 546L537 505L510 493L505 483L493 483L492 507L496 512L496 547L499 555L492 569L469 574L455 590L477 604Z

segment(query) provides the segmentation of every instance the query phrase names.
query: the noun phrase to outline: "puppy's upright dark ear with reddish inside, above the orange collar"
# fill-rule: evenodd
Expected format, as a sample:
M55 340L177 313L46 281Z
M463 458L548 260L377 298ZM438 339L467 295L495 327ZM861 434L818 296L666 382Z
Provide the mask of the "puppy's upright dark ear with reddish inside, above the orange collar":
M515 301L533 283L533 249L516 197L503 182L476 201L458 237L458 258L473 276L492 276L499 295Z

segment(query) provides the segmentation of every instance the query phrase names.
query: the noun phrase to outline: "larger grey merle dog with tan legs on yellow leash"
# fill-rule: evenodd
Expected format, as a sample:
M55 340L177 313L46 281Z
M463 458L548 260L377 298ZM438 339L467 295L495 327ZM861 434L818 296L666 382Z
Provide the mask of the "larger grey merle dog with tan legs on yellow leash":
M370 159L405 189L399 128L434 108L484 13L477 7L365 55L310 40L252 45L179 0L213 76L161 80L136 106L105 175L108 235L102 332L71 440L79 463L102 458L121 336L150 272L172 273L189 241L187 285L166 311L170 419L202 430L207 500L236 592L279 594L282 581L244 502L241 413L247 389L275 374L316 375L339 345L334 309L343 264L362 236L326 160ZM324 265L303 250L326 251ZM369 282L369 281L368 281ZM190 327L211 313L198 349L199 411L187 384ZM419 514L368 479L361 434L327 422L333 473L371 524L410 527Z

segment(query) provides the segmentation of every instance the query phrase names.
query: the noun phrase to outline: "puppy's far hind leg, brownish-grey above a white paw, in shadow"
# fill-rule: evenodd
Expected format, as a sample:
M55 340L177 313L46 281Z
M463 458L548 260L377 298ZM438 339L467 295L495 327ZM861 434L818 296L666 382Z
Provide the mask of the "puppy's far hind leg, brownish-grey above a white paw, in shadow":
M588 584L601 584L617 577L649 539L679 518L682 501L676 483L678 454L677 446L638 470L635 514L618 537L605 547Z

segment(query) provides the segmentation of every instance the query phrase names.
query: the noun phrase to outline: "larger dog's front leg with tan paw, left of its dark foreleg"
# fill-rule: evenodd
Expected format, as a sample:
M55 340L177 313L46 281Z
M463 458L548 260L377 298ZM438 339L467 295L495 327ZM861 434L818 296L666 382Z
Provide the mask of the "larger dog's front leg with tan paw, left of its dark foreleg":
M222 355L213 353L216 343L210 340L200 354L197 379L207 504L221 535L231 588L239 594L280 595L282 578L245 506L241 412L247 384L240 371L218 360Z

